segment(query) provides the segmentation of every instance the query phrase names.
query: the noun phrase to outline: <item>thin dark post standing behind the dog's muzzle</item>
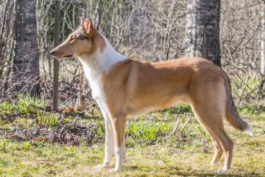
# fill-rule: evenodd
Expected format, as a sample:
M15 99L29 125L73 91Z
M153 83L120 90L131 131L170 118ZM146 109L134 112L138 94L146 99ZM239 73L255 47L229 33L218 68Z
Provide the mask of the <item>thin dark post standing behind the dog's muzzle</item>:
M55 1L54 11L54 47L59 45L59 25L60 25L60 3L61 1ZM59 61L54 57L54 78L53 78L53 98L52 98L52 110L58 110L58 82L59 82Z

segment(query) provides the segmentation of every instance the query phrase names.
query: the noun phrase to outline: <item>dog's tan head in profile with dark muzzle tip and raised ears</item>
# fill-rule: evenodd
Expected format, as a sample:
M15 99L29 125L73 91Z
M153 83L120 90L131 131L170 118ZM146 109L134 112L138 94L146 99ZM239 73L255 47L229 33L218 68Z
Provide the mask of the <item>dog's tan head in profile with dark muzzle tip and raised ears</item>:
M78 17L81 25L71 33L60 45L55 47L50 54L59 59L78 57L83 54L92 55L98 47L95 38L98 31L94 28L91 18Z

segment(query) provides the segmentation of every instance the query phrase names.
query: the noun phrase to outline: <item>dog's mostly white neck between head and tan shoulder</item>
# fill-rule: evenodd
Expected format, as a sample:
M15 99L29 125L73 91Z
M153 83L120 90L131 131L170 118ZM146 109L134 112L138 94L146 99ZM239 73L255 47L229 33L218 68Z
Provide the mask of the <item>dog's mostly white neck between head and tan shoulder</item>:
M101 34L98 33L98 35ZM78 59L83 64L84 72L88 79L102 76L102 74L107 73L114 64L127 59L127 57L114 50L104 35L100 37L103 38L102 41L105 42L102 49L98 47L93 55L84 54L78 56Z

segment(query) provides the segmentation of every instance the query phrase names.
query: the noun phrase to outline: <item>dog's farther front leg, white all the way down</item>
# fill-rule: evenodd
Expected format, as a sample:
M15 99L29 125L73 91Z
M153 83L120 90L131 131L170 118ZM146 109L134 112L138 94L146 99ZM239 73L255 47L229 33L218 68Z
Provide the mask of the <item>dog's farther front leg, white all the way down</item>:
M103 110L102 110L103 112ZM99 164L96 168L107 168L110 166L112 156L114 156L114 133L112 129L112 122L106 112L102 113L105 119L106 137L105 137L105 158L103 164Z

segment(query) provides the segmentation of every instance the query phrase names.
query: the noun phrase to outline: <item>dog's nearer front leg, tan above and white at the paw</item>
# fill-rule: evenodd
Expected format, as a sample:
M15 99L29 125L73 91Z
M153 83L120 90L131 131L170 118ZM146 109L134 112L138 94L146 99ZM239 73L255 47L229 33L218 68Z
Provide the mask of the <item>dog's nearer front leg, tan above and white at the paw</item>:
M116 164L115 168L110 172L117 172L122 168L122 164L125 159L125 116L117 116L110 118L112 121L112 127L114 131L115 142L115 155Z

